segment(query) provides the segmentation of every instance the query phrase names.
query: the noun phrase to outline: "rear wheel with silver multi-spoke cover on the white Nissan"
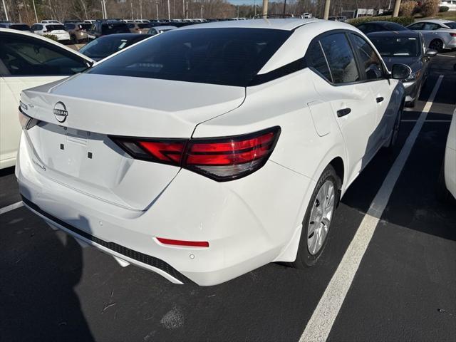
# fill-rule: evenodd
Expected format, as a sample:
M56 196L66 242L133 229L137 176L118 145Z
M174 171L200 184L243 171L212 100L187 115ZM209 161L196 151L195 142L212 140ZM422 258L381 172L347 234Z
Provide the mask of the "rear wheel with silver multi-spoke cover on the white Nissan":
M331 187L333 191L332 195L329 195L331 194ZM306 267L314 266L321 256L321 253L323 253L323 249L326 247L326 242L328 241L329 232L331 231L331 222L340 196L340 187L341 180L336 175L334 168L331 165L328 165L316 183L314 193L311 196L309 205L306 209L306 214L302 221L298 253L296 255L296 260L291 263L291 266L296 269L305 269ZM326 193L326 195L321 196L323 193ZM321 199L323 199L323 201L321 201ZM328 204L327 212L321 202L326 202ZM317 209L318 207L321 209ZM320 214L319 210L321 211L322 217L316 219L318 214ZM319 222L316 224L318 220ZM312 227L314 227L313 232L311 231ZM320 237L322 238L321 240L319 239Z

